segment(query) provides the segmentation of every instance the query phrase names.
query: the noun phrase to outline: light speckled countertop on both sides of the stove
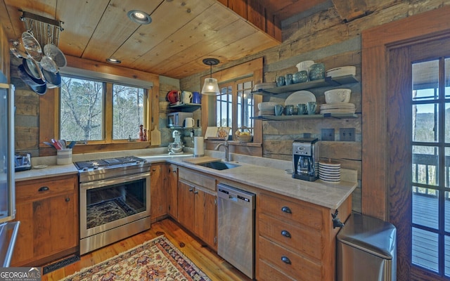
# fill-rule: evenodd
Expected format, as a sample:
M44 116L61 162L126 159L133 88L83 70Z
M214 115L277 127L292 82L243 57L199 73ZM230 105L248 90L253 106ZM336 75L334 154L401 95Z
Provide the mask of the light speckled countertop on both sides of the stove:
M209 153L212 157L217 157L214 152ZM280 195L293 197L298 200L311 202L330 209L337 209L356 188L356 178L354 181L341 181L340 183L325 183L321 180L314 182L301 181L292 178L285 169L292 169L290 162L266 159L262 157L243 157L233 155L232 163L237 166L233 169L215 170L185 162L184 159L192 158L192 155L170 156L170 155L136 155L148 162L170 162L185 166L187 168L202 171L212 176L226 178L231 181L238 181L255 188L276 192ZM76 161L80 161L77 159ZM49 176L63 176L77 174L75 165L52 165L45 169L31 169L15 173L15 181L26 181L36 178L47 178Z

